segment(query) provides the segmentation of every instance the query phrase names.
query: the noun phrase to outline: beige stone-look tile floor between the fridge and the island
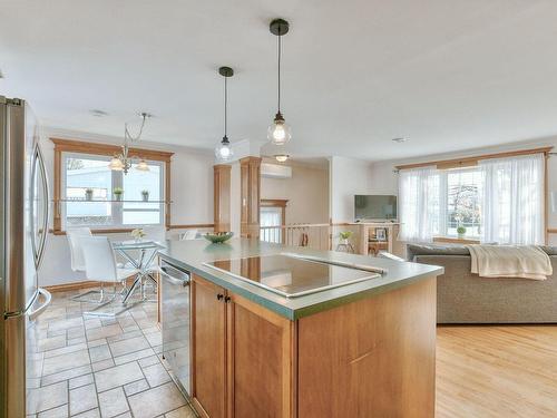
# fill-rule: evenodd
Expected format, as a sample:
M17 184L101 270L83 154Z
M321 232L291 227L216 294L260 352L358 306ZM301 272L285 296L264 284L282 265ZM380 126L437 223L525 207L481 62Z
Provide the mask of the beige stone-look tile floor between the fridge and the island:
M52 293L28 329L28 418L196 417L162 359L156 303L116 318Z

